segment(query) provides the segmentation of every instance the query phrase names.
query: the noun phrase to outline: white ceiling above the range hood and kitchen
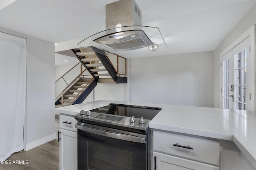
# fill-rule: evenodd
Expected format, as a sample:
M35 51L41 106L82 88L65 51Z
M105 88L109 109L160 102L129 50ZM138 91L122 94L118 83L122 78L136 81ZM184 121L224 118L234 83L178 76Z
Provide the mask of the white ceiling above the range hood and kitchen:
M56 51L63 51L76 48L82 39L103 31L105 5L117 0L9 1L11 4L0 10L0 27L57 43ZM143 48L118 54L134 58L213 51L255 2L136 0L142 11L142 25L158 27L168 48L160 44L154 52Z

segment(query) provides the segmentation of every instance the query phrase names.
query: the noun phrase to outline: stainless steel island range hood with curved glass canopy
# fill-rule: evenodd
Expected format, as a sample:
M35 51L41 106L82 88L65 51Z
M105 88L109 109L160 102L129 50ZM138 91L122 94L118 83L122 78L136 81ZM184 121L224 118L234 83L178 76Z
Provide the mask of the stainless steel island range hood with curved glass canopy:
M106 30L84 39L78 45L94 46L94 42L114 51L127 51L153 45L151 37L159 39L159 36L164 41L157 27L142 26L141 10L135 0L119 0L106 5Z

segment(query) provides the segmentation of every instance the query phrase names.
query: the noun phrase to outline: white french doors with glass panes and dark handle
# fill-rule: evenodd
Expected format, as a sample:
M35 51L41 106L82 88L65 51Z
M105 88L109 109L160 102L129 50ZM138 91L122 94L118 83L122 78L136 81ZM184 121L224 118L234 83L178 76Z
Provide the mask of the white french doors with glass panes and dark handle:
M250 37L221 59L222 108L254 110L254 59L250 58Z

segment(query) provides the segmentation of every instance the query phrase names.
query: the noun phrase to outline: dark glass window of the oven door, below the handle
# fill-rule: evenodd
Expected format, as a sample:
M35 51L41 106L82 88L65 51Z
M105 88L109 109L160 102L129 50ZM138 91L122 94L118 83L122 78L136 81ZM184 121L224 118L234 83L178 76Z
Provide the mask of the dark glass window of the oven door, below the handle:
M147 170L147 145L78 129L78 170Z

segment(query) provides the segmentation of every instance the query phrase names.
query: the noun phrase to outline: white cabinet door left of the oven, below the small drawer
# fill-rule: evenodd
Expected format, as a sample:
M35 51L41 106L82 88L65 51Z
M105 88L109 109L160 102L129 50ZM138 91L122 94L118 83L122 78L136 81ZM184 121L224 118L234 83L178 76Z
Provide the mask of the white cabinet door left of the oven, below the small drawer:
M77 133L60 129L60 170L77 170Z

